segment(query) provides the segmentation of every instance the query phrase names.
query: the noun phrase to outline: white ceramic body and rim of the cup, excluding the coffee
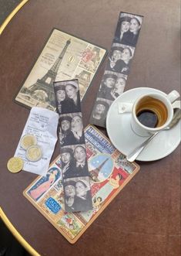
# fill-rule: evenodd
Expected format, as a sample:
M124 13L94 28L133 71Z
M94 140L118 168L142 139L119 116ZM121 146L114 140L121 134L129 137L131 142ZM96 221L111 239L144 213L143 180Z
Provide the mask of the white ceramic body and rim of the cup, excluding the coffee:
M166 110L167 110L166 120L161 126L150 128L149 126L142 125L142 123L139 121L138 117L136 116L136 109L139 108L138 106L142 101L146 101L145 99L147 99L147 97L162 101L162 103L166 107ZM177 105L173 104L173 101L176 101L178 97L179 97L179 93L176 90L173 90L166 95L159 94L159 93L142 94L140 97L137 97L136 101L134 101L133 103L119 102L119 114L128 113L128 112L132 113L132 118L131 118L132 131L134 131L136 135L139 135L142 137L150 136L156 133L157 131L161 131L164 128L166 128L169 125L169 123L172 121L173 108L180 108L180 101L177 101Z

